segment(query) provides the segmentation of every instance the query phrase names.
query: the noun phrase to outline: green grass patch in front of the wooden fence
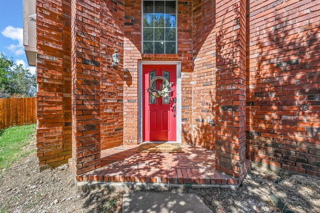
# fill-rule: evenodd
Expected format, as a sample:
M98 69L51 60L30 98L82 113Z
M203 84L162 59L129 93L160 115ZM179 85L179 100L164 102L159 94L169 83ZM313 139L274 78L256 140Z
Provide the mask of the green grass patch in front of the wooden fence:
M14 161L34 152L22 147L29 144L35 124L0 129L0 171L6 170Z

